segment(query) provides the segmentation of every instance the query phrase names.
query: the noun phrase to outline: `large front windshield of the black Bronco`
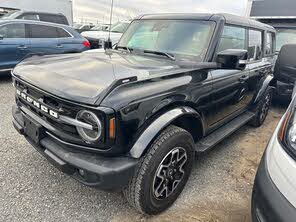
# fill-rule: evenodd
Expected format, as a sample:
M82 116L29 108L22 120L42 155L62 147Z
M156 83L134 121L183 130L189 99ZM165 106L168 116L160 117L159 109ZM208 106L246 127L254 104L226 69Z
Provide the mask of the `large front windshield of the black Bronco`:
M207 52L214 22L191 20L138 20L132 22L118 47L157 51L202 61Z

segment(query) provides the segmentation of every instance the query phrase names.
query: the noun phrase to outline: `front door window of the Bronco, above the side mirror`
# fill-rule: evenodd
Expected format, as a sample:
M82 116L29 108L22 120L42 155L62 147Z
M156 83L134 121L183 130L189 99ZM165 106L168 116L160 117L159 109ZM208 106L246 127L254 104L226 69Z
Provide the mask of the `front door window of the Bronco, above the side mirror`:
M246 49L246 29L235 26L225 26L218 52L226 49Z

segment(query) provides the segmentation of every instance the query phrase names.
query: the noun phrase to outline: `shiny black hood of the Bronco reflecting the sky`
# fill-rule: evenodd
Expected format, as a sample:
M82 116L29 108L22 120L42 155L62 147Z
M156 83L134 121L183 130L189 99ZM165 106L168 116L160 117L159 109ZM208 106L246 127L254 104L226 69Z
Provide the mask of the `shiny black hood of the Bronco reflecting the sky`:
M34 56L17 65L13 75L60 98L98 105L120 84L181 70L159 57L102 52Z

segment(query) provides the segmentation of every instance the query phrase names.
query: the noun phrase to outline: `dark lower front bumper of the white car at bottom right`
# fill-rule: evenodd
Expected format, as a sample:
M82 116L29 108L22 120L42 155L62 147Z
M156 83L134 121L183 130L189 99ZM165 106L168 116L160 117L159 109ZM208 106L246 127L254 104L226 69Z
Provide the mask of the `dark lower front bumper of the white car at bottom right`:
M273 183L264 155L255 179L252 196L253 222L290 222L296 218L296 209Z

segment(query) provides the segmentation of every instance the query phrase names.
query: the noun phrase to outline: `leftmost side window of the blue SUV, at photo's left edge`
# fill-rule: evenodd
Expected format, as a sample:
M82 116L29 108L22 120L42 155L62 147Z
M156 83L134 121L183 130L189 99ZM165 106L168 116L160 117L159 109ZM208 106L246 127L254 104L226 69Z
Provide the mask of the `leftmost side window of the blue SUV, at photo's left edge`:
M25 38L24 24L9 24L0 27L0 35L4 38Z

